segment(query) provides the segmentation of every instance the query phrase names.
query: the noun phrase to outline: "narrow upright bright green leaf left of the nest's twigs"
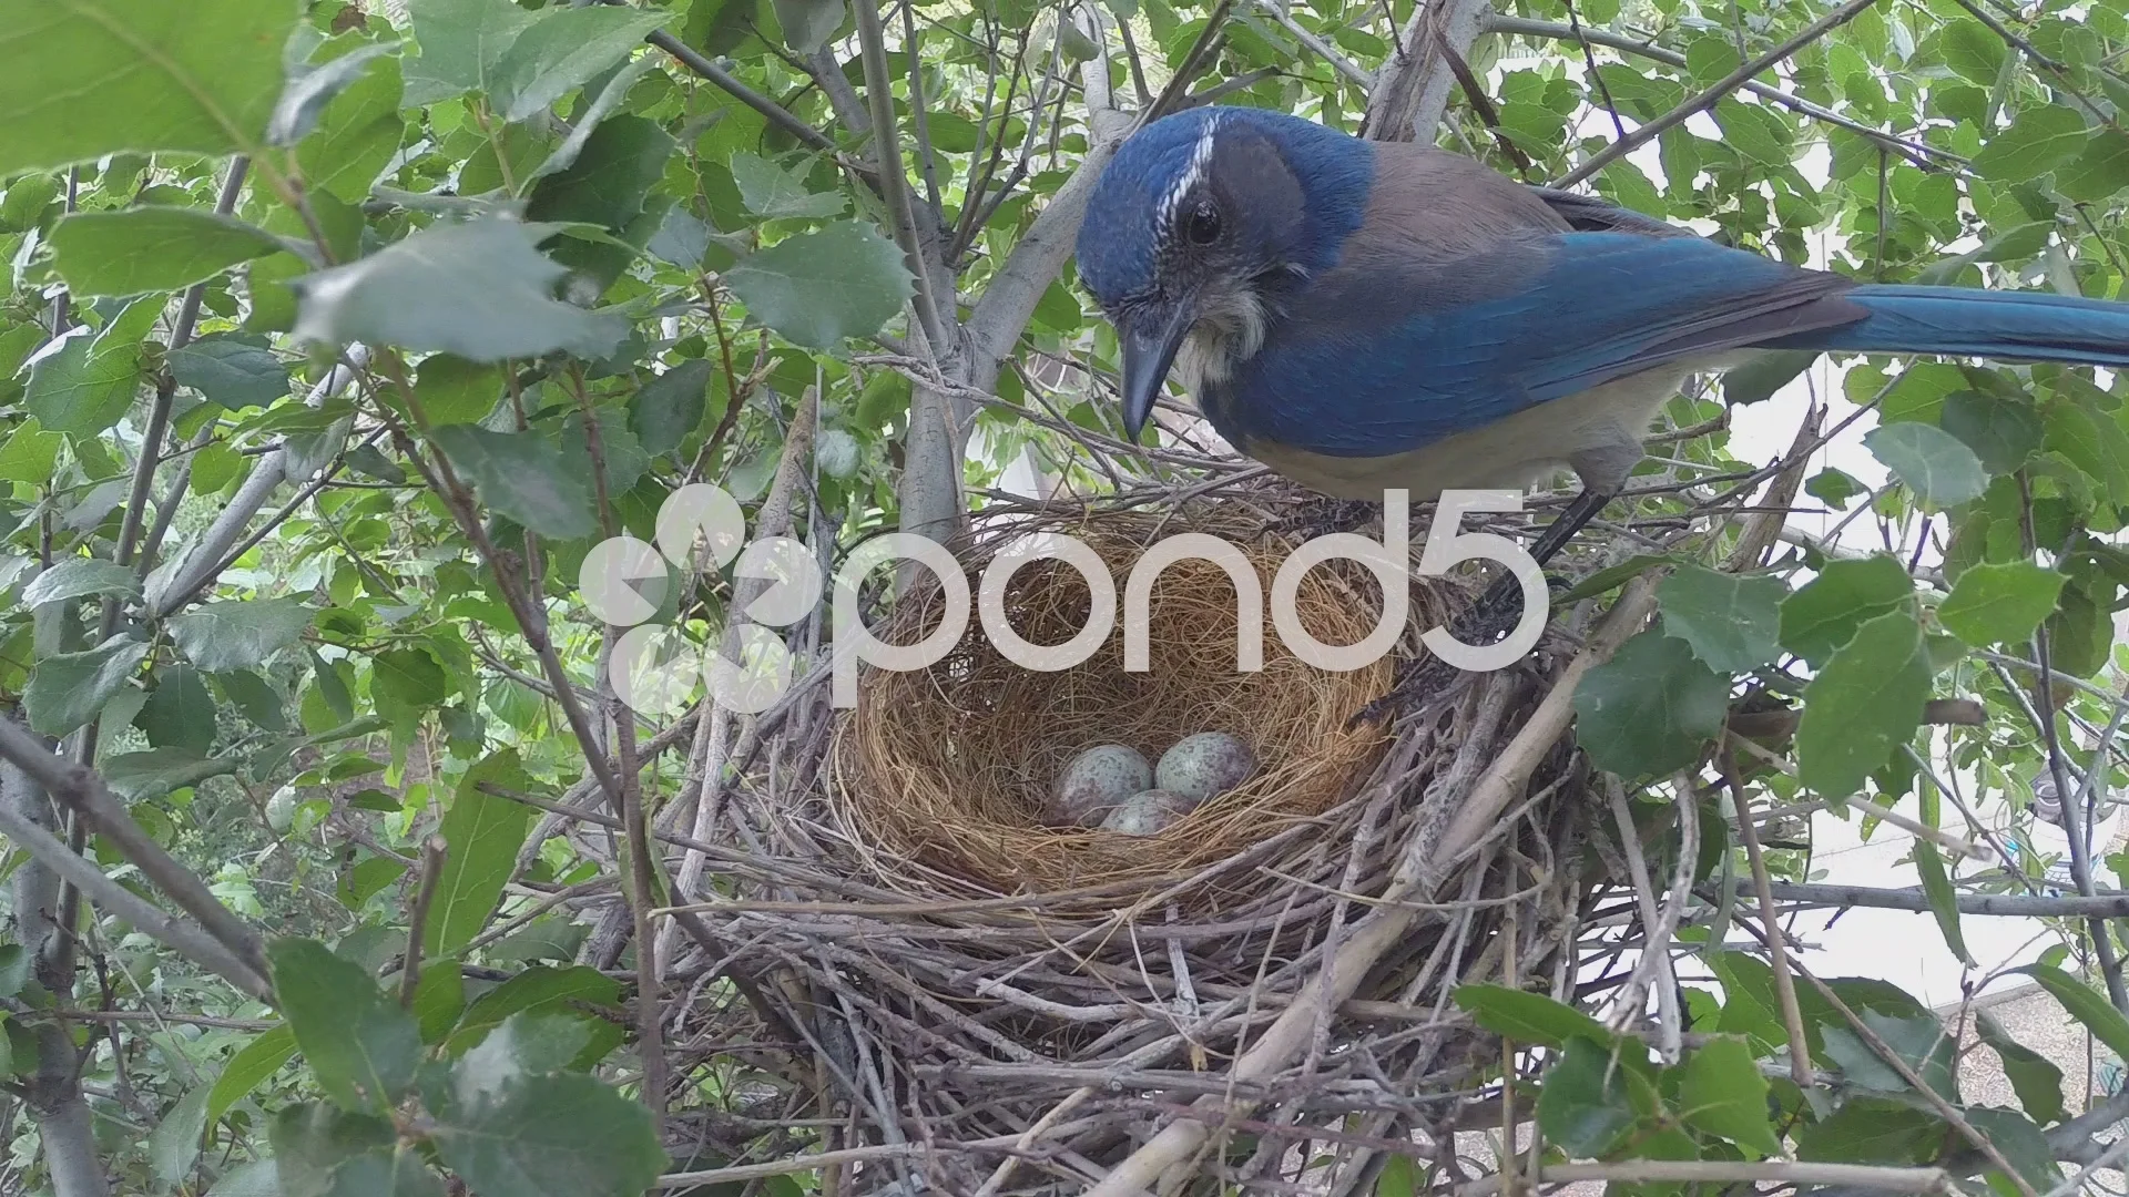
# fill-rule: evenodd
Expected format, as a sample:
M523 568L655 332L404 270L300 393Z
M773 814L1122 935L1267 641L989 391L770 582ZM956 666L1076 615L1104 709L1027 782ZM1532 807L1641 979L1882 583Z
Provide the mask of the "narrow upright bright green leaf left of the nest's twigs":
M517 850L532 829L532 807L490 794L483 784L532 790L532 780L517 763L517 750L507 748L466 769L451 797L451 809L436 829L447 856L428 914L430 956L464 948L488 927L490 914L502 901L502 886L517 867Z

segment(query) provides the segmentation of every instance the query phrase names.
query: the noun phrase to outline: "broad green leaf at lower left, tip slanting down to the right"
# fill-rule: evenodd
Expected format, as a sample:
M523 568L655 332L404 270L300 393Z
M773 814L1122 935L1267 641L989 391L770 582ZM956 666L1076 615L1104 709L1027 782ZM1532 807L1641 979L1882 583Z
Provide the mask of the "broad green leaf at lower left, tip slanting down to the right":
M275 999L304 1063L341 1110L381 1114L413 1084L422 1031L370 973L315 939L268 950Z

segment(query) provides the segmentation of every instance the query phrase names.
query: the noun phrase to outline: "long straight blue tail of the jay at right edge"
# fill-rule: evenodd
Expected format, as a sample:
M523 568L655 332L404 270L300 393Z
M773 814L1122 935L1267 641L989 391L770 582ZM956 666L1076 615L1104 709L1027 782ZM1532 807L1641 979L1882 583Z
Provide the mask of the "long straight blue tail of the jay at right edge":
M1782 347L2129 366L2129 302L1893 283L1865 283L1844 298L1871 315L1786 337Z

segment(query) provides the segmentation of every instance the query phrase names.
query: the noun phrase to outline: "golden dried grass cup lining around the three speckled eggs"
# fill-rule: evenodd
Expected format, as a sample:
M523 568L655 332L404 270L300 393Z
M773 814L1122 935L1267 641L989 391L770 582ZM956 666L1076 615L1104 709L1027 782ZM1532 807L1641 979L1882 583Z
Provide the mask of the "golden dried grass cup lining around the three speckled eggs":
M971 616L956 650L930 669L860 677L858 707L835 745L832 797L852 841L884 850L873 860L881 875L920 865L1009 895L1126 884L1113 897L1128 897L1130 882L1154 888L1326 811L1373 769L1388 745L1386 728L1346 724L1388 690L1394 658L1331 673L1286 647L1269 598L1299 537L1214 505L1022 520L979 530L956 554L971 594L984 564L1030 530L1073 535L1109 564L1118 626L1086 662L1037 673L999 652ZM1265 594L1262 671L1235 669L1235 586L1203 558L1184 558L1158 575L1148 603L1152 669L1124 671L1122 592L1130 567L1150 543L1177 532L1220 537L1256 567ZM907 598L877 635L911 643L939 626L941 607L937 588ZM1058 560L1024 564L1005 590L1013 628L1039 645L1077 635L1088 607L1086 581ZM1297 596L1301 624L1331 645L1367 637L1380 609L1375 577L1346 560L1311 569ZM1407 637L1443 613L1441 592L1416 584ZM1199 731L1250 741L1258 773L1154 837L1039 822L1052 780L1084 748L1128 743L1156 760ZM1224 888L1241 882L1248 878L1222 878Z

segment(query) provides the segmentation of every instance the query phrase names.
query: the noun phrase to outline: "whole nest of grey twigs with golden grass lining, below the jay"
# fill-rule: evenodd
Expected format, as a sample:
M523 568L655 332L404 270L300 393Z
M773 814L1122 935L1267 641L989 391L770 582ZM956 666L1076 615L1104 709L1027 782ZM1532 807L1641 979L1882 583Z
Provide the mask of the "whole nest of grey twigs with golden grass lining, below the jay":
M1471 980L1571 995L1595 888L1586 765L1567 739L1518 739L1556 647L1350 728L1394 656L1311 669L1265 618L1265 669L1239 673L1233 584L1182 560L1150 594L1150 669L1124 669L1122 594L1150 543L1233 543L1269 609L1280 562L1326 530L1322 515L1322 501L1248 481L1165 513L994 509L956 547L971 594L1011 541L1069 532L1111 564L1118 630L1084 665L1033 673L971 618L930 669L860 673L847 711L811 686L741 750L694 824L715 884L681 922L692 948L669 980L690 1001L673 1044L679 1063L752 1044L756 1076L777 1080L749 1088L749 1118L669 1131L732 1163L841 1150L843 1197L1077 1193L1184 1105L1226 1095L1254 1118L1228 1125L1199 1169L1254 1188L1331 1133L1318 1146L1350 1157L1333 1193L1367 1193L1388 1157L1365 1144L1448 1144L1458 1118L1484 1118L1467 1103L1499 1050L1450 995ZM1075 635L1088 605L1079 573L1050 560L1022 567L1003 598L1033 643ZM937 588L913 590L873 630L911 643L941 609ZM1318 567L1297 594L1301 624L1331 645L1363 639L1380 609L1360 562ZM1401 652L1450 609L1448 592L1414 584ZM1082 748L1122 741L1152 760L1211 728L1245 737L1260 771L1171 831L1039 822ZM1499 814L1458 833L1505 756L1520 765L1488 799ZM1467 846L1443 858L1446 841ZM1318 1010L1311 982L1350 941L1380 939L1371 927L1392 907L1409 927L1373 941L1363 975L1322 1005L1314 1046L1231 1076L1297 999ZM764 1137L779 1118L815 1131Z

